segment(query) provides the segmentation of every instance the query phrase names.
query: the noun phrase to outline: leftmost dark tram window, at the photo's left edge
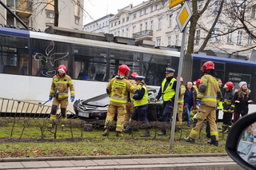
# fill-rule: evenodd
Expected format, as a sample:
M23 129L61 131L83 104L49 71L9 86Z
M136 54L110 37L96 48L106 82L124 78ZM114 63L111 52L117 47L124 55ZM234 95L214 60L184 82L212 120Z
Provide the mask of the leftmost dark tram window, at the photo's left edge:
M28 74L28 50L0 46L0 73Z

